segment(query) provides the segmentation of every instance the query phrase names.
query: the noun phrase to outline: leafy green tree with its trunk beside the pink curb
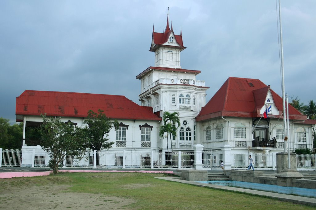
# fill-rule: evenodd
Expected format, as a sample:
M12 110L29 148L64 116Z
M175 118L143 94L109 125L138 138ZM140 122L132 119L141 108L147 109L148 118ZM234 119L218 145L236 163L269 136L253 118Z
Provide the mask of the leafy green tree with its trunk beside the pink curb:
M40 145L51 158L49 166L53 173L58 173L58 167L66 156L73 155L79 160L83 158L88 139L85 138L82 128L74 127L72 123L65 123L60 118L47 119L46 115L41 116L43 124L39 129Z

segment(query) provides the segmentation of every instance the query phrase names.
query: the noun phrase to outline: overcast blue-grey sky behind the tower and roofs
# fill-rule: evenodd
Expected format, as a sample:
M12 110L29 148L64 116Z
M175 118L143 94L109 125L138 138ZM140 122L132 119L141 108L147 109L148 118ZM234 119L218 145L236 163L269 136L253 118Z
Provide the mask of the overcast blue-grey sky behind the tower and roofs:
M276 0L0 1L0 117L15 122L24 90L124 95L154 66L153 24L167 8L181 67L201 70L207 101L228 77L260 79L282 95ZM281 2L285 91L316 101L316 1Z

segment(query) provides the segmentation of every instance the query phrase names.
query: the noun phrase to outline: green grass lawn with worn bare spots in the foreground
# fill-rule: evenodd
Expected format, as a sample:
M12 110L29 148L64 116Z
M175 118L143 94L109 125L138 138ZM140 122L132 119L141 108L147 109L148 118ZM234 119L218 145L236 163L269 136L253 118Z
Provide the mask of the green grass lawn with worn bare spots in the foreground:
M155 178L166 176L149 173L59 173L0 179L0 209L10 205L12 209L315 209L257 195ZM30 196L24 195L28 193ZM39 208L32 206L34 196L37 196L36 201L42 200ZM54 200L60 202L50 205ZM84 205L72 206L69 201ZM110 203L112 206L108 206ZM115 206L119 204L121 206Z

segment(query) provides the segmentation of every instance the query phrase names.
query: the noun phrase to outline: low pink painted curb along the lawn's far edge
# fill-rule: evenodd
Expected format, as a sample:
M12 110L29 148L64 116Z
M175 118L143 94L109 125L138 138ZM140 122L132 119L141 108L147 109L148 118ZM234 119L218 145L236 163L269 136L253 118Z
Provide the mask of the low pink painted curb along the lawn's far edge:
M99 173L99 172L130 172L130 173L173 173L172 171L118 171L118 170L108 170L108 171L95 171L95 170L59 170L59 172L83 172L83 173ZM53 173L53 171L45 172L2 172L0 173L0 179L13 178L13 177L38 177L47 176Z

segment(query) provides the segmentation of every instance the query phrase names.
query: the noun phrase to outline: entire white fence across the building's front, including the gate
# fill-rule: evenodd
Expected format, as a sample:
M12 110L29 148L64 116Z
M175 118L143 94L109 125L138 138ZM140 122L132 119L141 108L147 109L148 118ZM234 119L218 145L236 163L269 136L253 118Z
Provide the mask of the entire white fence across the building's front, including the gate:
M315 169L316 155L296 155L298 170ZM232 169L245 169L249 164L249 155L228 153L223 150L203 150L202 163L205 170L219 168L221 160L231 163ZM276 154L252 153L255 168L262 170L276 169ZM1 149L0 167L48 167L50 157L40 149ZM67 156L62 167L87 168L194 168L194 152L157 152L157 151L89 151L81 160Z

